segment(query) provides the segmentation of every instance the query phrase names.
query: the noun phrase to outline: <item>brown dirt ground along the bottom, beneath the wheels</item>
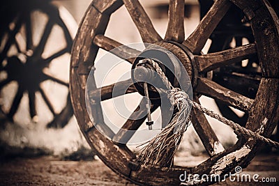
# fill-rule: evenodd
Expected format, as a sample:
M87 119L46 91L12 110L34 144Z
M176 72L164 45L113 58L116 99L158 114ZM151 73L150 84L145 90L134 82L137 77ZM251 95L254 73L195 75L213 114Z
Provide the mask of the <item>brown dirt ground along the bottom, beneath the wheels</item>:
M274 177L279 185L279 156L259 155L243 173ZM64 161L58 157L16 157L0 163L0 185L134 185L117 176L100 160ZM216 185L239 185L226 181ZM241 183L241 185L266 185Z

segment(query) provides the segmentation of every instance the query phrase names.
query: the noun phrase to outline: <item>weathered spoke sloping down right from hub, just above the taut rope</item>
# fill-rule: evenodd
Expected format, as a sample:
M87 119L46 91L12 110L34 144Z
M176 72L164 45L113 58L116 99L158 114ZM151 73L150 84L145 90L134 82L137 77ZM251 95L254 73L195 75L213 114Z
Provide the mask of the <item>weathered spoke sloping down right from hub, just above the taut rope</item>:
M239 93L235 93L234 91L220 86L219 84L216 84L206 78L199 78L197 80L197 87L195 91L197 91L197 93L201 93L202 95L221 100L242 111L249 111L253 103L252 99Z

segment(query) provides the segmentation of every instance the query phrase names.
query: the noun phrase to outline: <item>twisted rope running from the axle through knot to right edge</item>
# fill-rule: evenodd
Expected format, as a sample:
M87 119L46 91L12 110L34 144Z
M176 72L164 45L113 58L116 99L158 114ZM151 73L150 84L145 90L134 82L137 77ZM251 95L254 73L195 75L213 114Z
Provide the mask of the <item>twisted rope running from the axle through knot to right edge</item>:
M206 109L205 107L202 107L202 105L197 104L197 102L193 102L192 100L189 99L187 93L185 93L180 88L174 88L172 86L172 84L169 82L169 80L165 76L165 73L160 68L158 63L156 63L155 61L153 61L151 59L146 60L146 62L148 62L149 64L151 64L153 66L153 68L156 70L156 72L158 72L158 75L162 79L163 84L165 84L165 86L167 86L167 88L170 90L169 98L172 98L172 100L171 100L172 103L175 104L176 102L180 102L183 99L187 100L189 104L191 104L193 107L197 108L199 111L202 111L204 114L211 116L212 118L216 118L218 121L225 123L226 125L229 125L229 127L232 127L233 130L235 130L238 133L240 132L245 137L254 138L259 141L263 141L265 144L267 144L269 146L273 146L274 148L279 148L278 142L272 141L271 139L263 137L262 135L260 135L257 132L252 132L251 130L246 129L246 127L241 127L241 125L239 125L238 123L234 123L233 121L230 121L227 118L220 116L220 114L217 114L214 111L211 111L209 109Z

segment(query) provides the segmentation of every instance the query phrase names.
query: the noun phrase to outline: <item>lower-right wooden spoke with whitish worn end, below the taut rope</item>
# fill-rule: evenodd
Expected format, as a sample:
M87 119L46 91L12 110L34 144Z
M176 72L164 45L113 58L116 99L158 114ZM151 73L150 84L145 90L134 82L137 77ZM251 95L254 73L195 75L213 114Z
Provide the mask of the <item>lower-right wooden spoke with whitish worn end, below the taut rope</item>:
M194 98L194 101L199 103L199 99L197 97ZM199 138L202 140L202 144L204 144L204 148L207 153L209 153L209 156L212 157L213 155L225 150L204 114L195 107L192 109L191 121L193 123L193 127L199 135Z

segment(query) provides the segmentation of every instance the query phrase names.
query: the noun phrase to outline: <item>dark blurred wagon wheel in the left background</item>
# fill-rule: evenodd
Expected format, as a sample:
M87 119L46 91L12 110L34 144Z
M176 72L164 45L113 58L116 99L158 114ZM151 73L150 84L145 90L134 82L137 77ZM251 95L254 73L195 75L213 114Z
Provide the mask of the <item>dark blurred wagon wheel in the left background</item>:
M73 116L65 68L75 33L69 16L50 1L5 1L1 7L1 111L10 121L63 127Z

